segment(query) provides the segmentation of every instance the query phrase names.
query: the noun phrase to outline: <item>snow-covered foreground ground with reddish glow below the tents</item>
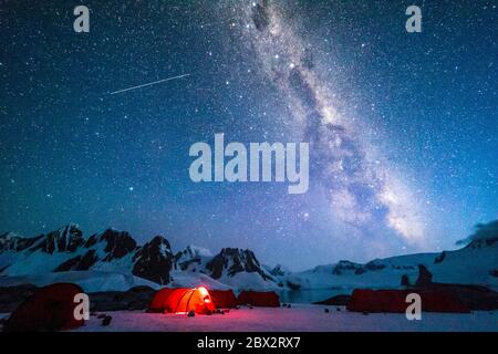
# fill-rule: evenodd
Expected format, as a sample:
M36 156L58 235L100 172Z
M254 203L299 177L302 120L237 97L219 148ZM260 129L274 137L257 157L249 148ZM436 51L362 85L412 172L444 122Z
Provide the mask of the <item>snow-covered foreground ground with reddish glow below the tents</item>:
M330 312L325 313L324 309ZM340 312L334 306L293 305L231 310L227 314L197 315L157 314L144 312L106 312L112 322L102 326L96 316L76 330L79 332L424 332L477 331L498 332L498 312L471 314L423 313L421 321L408 321L404 314L369 314Z

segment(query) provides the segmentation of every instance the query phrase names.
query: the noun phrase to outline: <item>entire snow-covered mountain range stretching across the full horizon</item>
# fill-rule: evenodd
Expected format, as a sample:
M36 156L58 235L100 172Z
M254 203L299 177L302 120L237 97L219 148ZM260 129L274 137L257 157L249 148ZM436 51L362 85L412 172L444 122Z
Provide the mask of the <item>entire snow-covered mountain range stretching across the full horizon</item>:
M488 232L489 233L489 232ZM126 231L107 229L84 237L76 225L33 238L0 236L0 287L72 281L86 290L197 287L236 290L324 290L400 288L413 284L419 264L434 282L498 289L498 236L479 235L456 251L418 253L367 263L340 261L303 272L261 264L251 250L224 248L219 253L189 246L173 253L162 236L138 246Z

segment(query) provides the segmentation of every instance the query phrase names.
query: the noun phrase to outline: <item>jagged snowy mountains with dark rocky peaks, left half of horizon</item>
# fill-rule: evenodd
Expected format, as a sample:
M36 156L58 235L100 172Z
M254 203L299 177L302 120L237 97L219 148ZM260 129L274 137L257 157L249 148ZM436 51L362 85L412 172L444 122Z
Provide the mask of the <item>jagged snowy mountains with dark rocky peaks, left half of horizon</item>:
M89 280L92 277L94 282ZM174 254L162 236L138 246L128 232L115 229L84 238L74 223L33 238L0 236L0 287L65 279L93 291L108 290L110 284L121 290L145 281L173 287L204 284L211 289L278 288L250 250L226 248L212 256L207 249L189 246Z

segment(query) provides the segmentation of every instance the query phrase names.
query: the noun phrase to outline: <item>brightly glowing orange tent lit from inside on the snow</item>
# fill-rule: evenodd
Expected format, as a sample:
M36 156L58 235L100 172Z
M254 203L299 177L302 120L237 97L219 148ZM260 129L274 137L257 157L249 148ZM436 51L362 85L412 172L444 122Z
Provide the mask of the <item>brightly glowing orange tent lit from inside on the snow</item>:
M165 288L157 291L148 305L149 312L187 313L194 311L197 314L215 311L211 296L206 288Z

